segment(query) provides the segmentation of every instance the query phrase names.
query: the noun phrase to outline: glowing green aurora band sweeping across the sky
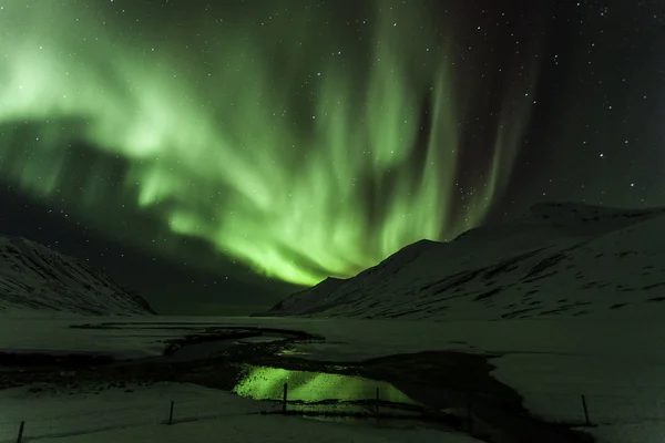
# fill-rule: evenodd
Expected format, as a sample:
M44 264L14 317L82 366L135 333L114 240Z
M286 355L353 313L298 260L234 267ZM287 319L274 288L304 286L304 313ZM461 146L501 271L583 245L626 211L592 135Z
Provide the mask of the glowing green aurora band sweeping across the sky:
M290 12L307 25L264 4L165 44L155 23L133 35L84 3L1 3L0 179L58 197L105 231L109 216L95 208L121 193L173 236L298 285L352 276L408 244L480 224L531 113L535 66L501 91L480 178L463 212L452 210L460 137L473 131L463 122L487 95L456 72L461 50L440 43L454 41L454 25L434 30L418 7L380 0L381 12L359 24L374 35L359 56L346 54L359 43L342 23L317 32L326 19L315 8ZM202 41L214 50L193 50ZM464 63L482 63L472 59ZM104 162L74 162L74 142L88 158L124 162L122 177Z

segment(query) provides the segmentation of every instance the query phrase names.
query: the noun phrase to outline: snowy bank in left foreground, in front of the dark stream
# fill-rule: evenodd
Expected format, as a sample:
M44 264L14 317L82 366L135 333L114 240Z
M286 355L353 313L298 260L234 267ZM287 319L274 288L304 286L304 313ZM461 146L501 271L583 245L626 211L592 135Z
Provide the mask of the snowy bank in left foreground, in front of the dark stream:
M24 439L39 442L447 442L474 439L424 429L382 429L297 416L259 415L275 404L242 399L196 385L158 383L106 389L70 396L31 393L25 388L0 391L0 442L14 442L21 420ZM167 425L174 401L174 424Z

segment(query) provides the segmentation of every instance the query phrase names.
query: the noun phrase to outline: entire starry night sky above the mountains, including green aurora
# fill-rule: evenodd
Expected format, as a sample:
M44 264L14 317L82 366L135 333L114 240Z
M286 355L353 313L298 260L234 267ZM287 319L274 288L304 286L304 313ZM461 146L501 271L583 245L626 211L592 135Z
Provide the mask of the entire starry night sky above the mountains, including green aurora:
M0 0L0 233L246 313L541 200L665 206L665 3Z

